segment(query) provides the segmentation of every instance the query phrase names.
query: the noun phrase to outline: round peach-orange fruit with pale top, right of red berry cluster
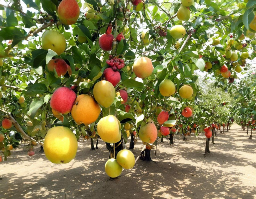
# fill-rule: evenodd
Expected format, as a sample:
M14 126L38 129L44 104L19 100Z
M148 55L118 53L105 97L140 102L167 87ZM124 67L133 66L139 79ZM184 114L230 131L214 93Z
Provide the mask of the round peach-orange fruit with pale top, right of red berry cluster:
M153 65L148 57L140 57L133 64L133 71L139 78L147 78L153 73Z

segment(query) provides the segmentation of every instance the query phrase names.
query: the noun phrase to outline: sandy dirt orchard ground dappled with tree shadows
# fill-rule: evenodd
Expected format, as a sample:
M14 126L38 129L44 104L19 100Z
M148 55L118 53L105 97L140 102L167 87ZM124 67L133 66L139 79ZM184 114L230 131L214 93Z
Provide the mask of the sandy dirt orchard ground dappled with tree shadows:
M217 136L206 157L203 134L197 140L192 134L187 141L174 136L174 145L159 140L157 156L151 151L156 163L138 159L115 180L105 174L109 153L102 141L98 150L90 151L90 140L80 140L76 158L61 165L43 153L29 157L21 146L0 163L0 198L256 198L256 135L249 140L233 125ZM141 142L135 145L135 158L142 147Z

